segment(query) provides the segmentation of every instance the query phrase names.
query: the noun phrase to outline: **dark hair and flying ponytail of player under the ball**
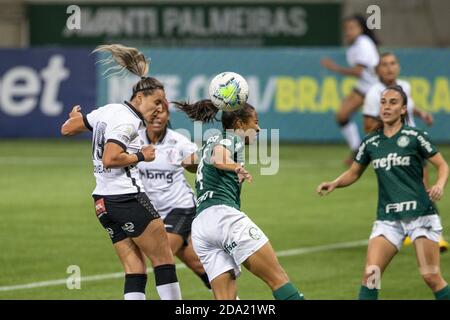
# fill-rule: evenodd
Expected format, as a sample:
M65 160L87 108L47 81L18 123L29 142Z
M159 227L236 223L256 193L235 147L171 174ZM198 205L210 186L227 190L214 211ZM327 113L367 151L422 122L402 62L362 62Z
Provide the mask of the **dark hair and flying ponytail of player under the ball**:
M197 101L193 104L187 102L173 102L176 107L187 114L187 116L194 121L213 122L219 121L216 118L219 109L209 99ZM246 103L242 108L234 111L222 111L222 127L226 129L234 129L236 122L241 120L248 123L255 108Z

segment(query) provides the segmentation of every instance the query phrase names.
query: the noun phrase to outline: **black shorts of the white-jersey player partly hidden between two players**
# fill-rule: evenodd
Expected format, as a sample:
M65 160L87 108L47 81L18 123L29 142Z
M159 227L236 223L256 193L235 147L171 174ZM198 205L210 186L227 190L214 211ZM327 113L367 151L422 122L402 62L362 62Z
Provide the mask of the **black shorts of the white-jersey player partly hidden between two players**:
M191 235L192 221L195 218L195 207L175 208L170 211L164 219L164 225L168 233L180 235L184 246L188 245L188 239Z

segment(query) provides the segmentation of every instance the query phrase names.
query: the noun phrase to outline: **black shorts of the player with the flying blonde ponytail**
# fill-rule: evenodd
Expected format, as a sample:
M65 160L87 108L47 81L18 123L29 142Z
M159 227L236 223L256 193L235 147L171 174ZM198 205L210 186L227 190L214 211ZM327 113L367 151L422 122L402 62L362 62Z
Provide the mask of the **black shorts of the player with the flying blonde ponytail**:
M160 218L145 193L92 197L97 218L113 243L139 237L150 221Z

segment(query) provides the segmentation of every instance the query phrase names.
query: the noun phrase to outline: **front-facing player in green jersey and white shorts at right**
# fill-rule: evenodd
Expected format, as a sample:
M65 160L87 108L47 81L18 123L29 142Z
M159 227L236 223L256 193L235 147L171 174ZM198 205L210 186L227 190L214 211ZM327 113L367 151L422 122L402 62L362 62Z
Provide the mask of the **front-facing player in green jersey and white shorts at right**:
M450 299L449 286L440 272L442 225L433 204L444 193L449 169L428 135L407 125L407 105L401 87L384 90L380 128L364 138L350 169L317 187L319 194L328 194L356 182L370 162L375 169L377 220L370 235L360 299L378 298L381 274L406 236L414 243L420 273L436 299ZM422 179L425 159L438 170L436 183L428 190Z

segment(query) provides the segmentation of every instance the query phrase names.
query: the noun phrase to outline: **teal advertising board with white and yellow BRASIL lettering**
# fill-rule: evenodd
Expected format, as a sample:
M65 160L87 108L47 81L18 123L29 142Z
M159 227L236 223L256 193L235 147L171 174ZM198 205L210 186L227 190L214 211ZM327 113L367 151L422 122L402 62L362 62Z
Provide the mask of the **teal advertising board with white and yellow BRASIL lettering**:
M208 97L210 79L223 71L242 74L250 87L249 102L262 127L279 129L280 140L297 142L342 141L335 113L352 90L355 78L343 77L320 65L330 57L345 65L343 49L147 49L150 75L166 86L169 100L196 101ZM410 81L417 107L432 112L429 132L436 141L450 142L450 50L394 50L401 63L401 78ZM98 105L127 99L139 79L104 79L99 67ZM175 128L192 130L192 123L173 110ZM355 115L361 125L362 116ZM424 126L417 121L418 126ZM220 126L220 124L218 124Z

